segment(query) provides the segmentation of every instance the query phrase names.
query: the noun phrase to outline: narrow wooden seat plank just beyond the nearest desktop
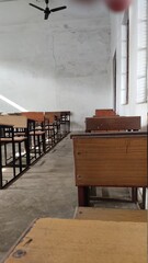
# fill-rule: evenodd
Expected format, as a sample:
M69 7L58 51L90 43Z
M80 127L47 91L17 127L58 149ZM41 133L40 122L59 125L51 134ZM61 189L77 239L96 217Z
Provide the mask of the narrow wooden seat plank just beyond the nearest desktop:
M77 207L75 219L101 221L147 222L147 210L106 209L94 207Z

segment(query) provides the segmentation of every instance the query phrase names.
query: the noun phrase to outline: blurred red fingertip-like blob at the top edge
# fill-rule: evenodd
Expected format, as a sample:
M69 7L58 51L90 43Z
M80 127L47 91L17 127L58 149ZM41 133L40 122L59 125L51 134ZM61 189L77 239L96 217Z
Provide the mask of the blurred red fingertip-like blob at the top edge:
M114 12L122 12L128 9L132 0L104 0L107 7Z

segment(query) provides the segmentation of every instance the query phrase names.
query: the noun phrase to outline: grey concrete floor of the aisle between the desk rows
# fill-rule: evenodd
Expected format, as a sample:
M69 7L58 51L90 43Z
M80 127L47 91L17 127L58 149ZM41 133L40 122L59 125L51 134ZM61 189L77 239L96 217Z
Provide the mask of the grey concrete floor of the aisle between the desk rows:
M112 197L121 193L124 198L129 195L125 188L101 193ZM0 191L0 261L35 218L72 218L76 206L72 141L68 136L9 188ZM96 206L134 208L132 204L107 202Z

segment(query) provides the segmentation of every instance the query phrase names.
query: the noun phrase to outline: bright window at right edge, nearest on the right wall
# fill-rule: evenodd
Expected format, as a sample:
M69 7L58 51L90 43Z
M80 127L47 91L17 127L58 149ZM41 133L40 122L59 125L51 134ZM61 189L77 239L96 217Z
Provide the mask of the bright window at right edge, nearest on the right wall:
M137 103L147 101L148 1L138 0L137 16Z

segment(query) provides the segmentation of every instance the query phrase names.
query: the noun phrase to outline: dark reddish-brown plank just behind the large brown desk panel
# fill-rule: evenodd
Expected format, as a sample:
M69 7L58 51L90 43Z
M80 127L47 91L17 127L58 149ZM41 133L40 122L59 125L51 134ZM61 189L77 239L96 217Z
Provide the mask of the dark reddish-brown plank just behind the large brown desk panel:
M88 117L86 118L86 132L92 130L138 130L140 129L140 116L129 117Z

